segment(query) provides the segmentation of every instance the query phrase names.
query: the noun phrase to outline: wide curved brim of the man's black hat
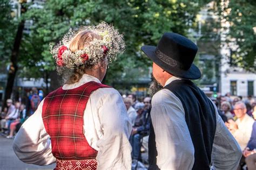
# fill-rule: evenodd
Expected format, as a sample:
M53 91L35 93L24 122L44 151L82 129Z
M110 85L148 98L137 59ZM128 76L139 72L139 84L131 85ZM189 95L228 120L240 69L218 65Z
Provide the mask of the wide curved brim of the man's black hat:
M149 46L149 45L144 45L141 47L142 51L154 62L156 63L159 67L163 68L166 72L180 78L184 79L191 79L191 80L196 80L201 77L201 72L199 68L192 63L191 67L188 70L183 70L178 67L171 67L166 65L165 62L161 61L155 51L156 47L155 46Z

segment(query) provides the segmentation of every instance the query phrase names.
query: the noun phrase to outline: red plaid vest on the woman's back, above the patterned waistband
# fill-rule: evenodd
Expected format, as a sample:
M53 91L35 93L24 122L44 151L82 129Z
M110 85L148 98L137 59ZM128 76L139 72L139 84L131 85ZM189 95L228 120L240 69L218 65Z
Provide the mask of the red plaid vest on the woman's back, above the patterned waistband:
M84 136L84 110L92 91L106 88L94 81L75 89L52 91L44 99L42 118L51 137L52 154L59 160L95 159L94 150Z

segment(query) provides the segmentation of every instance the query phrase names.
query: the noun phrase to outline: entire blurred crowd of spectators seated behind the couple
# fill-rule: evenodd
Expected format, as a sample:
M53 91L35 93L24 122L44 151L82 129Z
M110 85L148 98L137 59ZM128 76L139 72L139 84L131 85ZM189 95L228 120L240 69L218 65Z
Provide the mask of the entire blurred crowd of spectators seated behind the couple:
M22 123L36 110L42 100L37 95L37 89L32 89L29 105L21 102L6 101L7 107L1 114L1 135L6 138L14 138ZM132 169L136 169L141 162L147 164L147 157L142 158L142 152L148 153L148 140L150 129L151 97L137 100L136 95L130 94L124 97L127 114L131 119L132 132L130 144L132 146ZM219 115L226 127L238 141L243 155L239 169L247 166L248 170L256 169L256 101L248 96L245 100L241 96L220 96L212 98L217 105ZM28 109L26 109L28 108ZM225 141L224 141L225 142Z

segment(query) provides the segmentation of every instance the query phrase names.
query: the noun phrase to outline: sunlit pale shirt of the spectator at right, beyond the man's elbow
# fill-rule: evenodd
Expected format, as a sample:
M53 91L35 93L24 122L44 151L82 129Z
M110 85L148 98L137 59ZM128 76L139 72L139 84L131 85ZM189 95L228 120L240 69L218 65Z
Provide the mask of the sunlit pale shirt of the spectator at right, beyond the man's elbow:
M244 150L251 138L254 119L245 114L245 117L242 119L242 121L240 118L238 118L235 123L238 125L238 129L232 130L231 133L233 134L234 138L237 139L241 149Z

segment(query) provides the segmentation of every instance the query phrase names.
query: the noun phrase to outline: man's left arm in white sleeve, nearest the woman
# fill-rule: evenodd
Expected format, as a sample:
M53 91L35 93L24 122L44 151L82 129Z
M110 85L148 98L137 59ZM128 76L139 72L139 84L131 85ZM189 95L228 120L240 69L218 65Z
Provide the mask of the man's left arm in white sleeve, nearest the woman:
M194 147L179 98L170 90L152 98L152 125L156 134L157 165L160 169L192 169Z

